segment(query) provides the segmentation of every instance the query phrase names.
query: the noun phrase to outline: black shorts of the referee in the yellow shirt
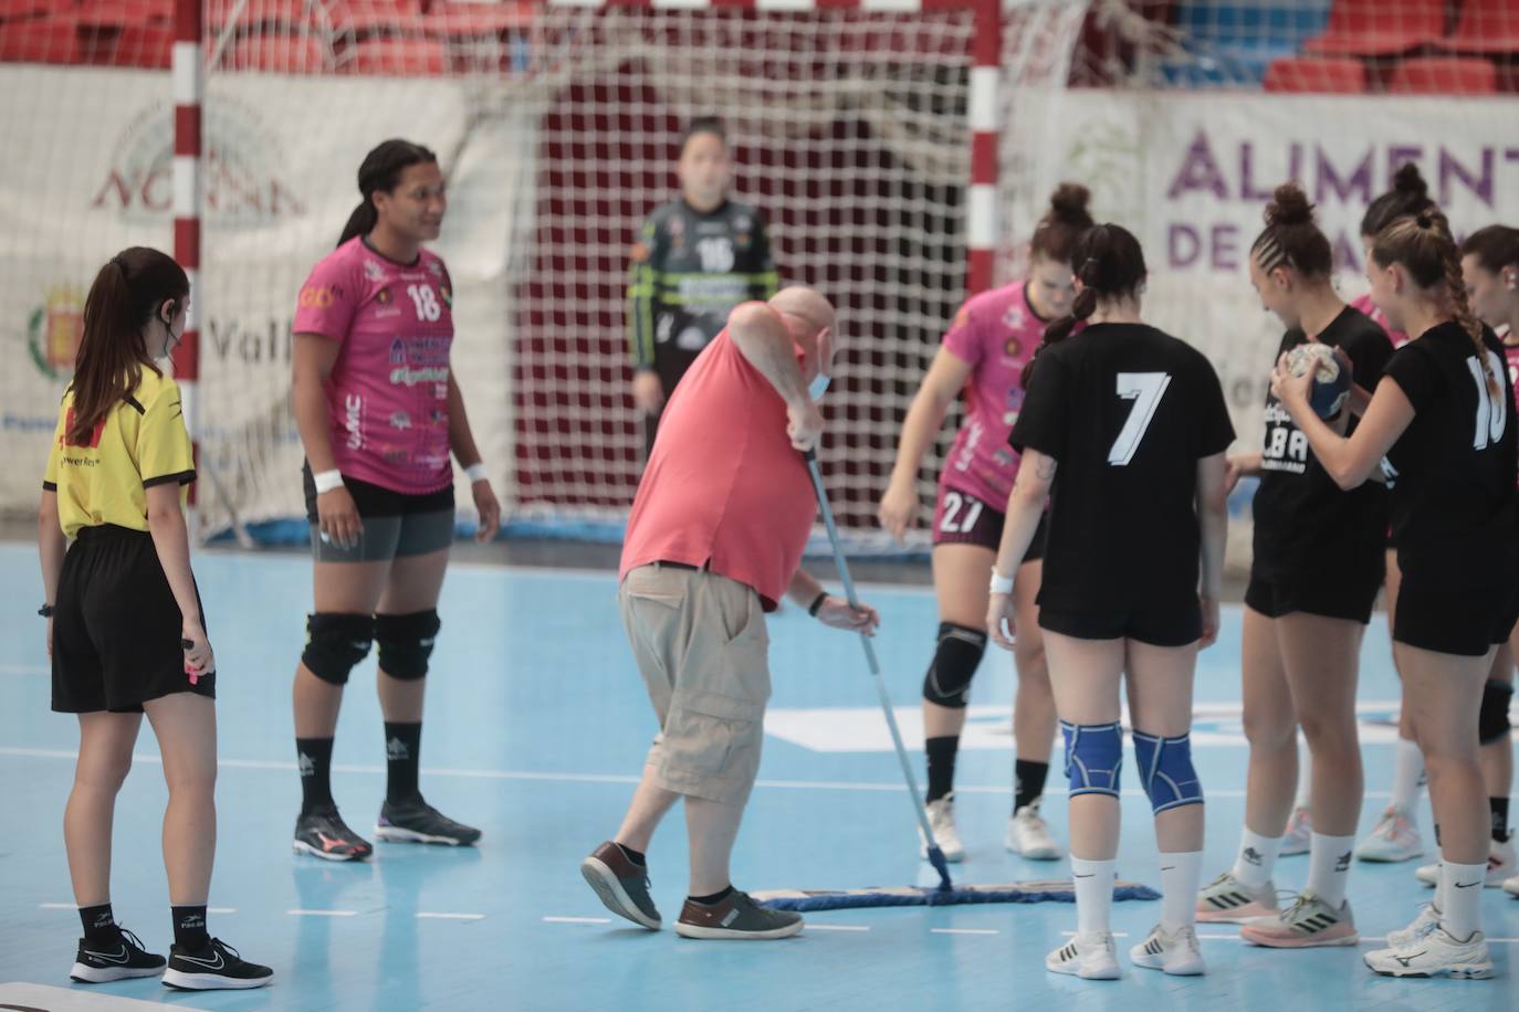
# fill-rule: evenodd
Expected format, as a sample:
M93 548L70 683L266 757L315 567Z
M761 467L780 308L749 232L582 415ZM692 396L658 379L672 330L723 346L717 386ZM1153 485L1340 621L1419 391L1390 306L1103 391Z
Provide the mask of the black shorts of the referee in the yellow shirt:
M216 672L190 684L182 625L147 531L82 528L53 602L53 710L141 713L175 692L214 699Z

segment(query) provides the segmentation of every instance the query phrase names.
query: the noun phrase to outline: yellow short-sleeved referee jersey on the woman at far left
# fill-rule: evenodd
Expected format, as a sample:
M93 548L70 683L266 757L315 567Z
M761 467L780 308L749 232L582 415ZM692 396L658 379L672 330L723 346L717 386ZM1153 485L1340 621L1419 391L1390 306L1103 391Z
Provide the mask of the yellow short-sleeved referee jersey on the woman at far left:
M96 426L88 446L67 442L74 414L73 387L58 408L53 451L43 487L58 492L58 522L67 537L82 526L114 523L147 530L147 487L194 481L190 432L179 407L179 387L144 367L143 378ZM181 489L184 505L188 490Z

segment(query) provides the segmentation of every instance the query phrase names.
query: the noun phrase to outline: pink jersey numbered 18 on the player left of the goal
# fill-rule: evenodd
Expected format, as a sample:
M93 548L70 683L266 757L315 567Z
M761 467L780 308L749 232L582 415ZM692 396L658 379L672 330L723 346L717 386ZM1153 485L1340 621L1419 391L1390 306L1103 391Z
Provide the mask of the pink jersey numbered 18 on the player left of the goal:
M349 478L404 495L453 482L451 310L448 270L428 250L403 266L358 237L311 270L293 329L339 343L327 404L337 469Z

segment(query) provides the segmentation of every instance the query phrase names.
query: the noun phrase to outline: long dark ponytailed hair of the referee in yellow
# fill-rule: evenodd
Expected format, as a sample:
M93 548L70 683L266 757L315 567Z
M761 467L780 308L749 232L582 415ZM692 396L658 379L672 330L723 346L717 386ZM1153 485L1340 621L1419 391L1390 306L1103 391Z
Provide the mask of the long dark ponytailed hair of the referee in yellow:
M167 253L146 246L125 249L106 261L85 297L84 334L74 358L74 405L64 437L88 446L94 428L143 378L161 373L147 354L143 329L166 302L170 319L190 294L190 279Z

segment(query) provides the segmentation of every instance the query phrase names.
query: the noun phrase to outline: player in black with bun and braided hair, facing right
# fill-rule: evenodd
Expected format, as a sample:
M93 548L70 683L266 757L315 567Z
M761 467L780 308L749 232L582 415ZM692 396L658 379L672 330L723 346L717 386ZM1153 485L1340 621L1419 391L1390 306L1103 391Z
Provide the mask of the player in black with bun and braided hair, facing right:
M1250 282L1288 328L1277 354L1318 341L1344 357L1355 384L1375 388L1393 343L1335 293L1334 255L1308 196L1296 184L1277 187L1265 223L1250 249ZM1331 426L1353 428L1349 404ZM1230 478L1241 472L1261 478L1241 651L1246 824L1233 866L1198 895L1197 919L1244 924L1241 936L1256 945L1353 945L1344 891L1364 794L1355 684L1382 584L1387 490L1341 490L1270 393L1262 449L1230 460ZM1300 775L1299 724L1312 753L1308 886L1279 910L1271 871Z

